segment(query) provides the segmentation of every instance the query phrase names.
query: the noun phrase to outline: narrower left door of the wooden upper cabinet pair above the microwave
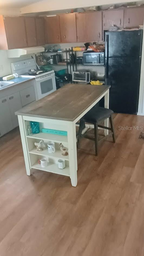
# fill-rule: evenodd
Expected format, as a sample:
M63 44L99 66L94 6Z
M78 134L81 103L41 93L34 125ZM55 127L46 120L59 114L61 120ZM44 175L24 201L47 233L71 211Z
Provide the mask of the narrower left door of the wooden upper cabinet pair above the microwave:
M77 21L77 41L85 42L86 41L86 14L85 13L77 13L76 14Z

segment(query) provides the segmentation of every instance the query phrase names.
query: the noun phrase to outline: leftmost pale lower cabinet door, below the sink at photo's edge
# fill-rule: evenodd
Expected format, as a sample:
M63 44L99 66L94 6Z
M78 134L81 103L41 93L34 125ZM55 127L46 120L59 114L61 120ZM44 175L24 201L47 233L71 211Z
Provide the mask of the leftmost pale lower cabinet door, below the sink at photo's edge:
M13 129L8 98L0 99L0 137Z

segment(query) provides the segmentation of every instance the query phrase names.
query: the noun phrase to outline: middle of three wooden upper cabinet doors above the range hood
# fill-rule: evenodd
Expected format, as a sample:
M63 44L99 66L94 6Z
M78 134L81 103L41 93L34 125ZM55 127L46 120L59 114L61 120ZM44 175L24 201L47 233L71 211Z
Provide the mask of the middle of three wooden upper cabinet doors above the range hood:
M37 34L34 17L25 17L28 47L37 46Z

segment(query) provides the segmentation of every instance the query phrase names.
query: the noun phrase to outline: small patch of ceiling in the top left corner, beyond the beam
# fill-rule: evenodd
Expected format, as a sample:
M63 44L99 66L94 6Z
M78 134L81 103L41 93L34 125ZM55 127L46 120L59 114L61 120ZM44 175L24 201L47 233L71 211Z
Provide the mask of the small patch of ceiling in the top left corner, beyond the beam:
M0 8L22 8L41 0L0 0Z

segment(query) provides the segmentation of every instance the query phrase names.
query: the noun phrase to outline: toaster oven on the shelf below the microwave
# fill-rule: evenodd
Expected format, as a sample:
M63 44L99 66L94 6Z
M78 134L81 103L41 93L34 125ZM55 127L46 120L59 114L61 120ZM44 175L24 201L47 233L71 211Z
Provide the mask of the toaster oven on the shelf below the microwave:
M90 72L83 71L74 71L72 72L72 81L73 82L90 82Z

